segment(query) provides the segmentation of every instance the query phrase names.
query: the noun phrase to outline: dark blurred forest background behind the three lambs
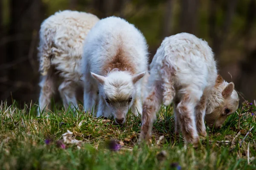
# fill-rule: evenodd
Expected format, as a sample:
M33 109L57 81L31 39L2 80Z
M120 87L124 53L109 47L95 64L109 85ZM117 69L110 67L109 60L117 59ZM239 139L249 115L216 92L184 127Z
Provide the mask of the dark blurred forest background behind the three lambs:
M0 0L0 100L38 102L38 30L65 9L125 18L151 57L164 37L195 34L209 42L224 79L256 99L256 0Z

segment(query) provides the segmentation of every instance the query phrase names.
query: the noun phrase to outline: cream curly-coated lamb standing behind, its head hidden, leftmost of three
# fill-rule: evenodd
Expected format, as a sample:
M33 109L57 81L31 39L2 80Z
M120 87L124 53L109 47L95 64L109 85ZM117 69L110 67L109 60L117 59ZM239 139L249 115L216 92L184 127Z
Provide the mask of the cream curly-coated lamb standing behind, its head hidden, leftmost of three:
M87 33L99 21L93 14L78 11L60 11L41 24L38 57L41 72L40 111L48 109L52 94L58 87L65 109L77 107L76 89L82 86L81 56Z

